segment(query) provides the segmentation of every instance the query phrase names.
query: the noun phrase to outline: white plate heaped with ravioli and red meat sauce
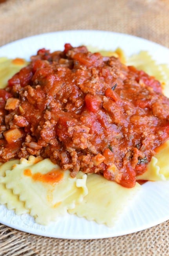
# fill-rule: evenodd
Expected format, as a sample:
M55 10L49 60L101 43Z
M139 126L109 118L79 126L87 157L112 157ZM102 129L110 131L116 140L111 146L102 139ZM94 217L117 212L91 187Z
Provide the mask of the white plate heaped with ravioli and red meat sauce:
M169 49L64 31L0 48L0 222L96 239L169 219Z

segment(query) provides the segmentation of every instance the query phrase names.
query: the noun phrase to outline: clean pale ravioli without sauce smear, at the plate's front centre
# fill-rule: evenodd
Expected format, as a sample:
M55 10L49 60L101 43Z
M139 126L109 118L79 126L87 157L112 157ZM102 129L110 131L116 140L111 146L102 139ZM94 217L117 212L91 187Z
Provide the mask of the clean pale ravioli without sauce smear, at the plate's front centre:
M136 183L135 187L128 189L98 174L88 175L86 185L88 194L81 203L76 204L74 209L69 210L69 213L76 213L79 217L107 226L116 223L141 187Z

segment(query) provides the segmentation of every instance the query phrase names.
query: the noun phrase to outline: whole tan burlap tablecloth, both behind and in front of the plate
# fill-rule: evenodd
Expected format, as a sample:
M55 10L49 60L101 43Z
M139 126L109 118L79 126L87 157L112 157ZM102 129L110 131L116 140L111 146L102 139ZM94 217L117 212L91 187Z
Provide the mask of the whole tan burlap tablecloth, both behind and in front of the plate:
M94 29L129 33L169 47L168 0L8 0L0 4L0 45L44 32ZM169 221L97 240L35 236L0 224L0 256L169 255Z

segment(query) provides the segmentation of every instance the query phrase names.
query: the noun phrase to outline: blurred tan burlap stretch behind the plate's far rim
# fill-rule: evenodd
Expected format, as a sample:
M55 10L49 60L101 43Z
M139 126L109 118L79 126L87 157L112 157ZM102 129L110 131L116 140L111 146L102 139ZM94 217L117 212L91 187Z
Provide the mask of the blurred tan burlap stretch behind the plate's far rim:
M0 45L39 33L96 29L169 47L168 0L8 0L0 6Z

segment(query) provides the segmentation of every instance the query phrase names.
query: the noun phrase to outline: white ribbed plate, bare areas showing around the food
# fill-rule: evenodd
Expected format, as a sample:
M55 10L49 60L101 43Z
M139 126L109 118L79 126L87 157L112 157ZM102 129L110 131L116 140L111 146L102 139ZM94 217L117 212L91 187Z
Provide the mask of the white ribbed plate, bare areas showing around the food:
M73 46L91 45L105 50L121 47L127 55L140 50L148 50L158 63L169 64L169 49L156 43L114 32L105 31L64 31L36 35L9 43L0 48L0 56L26 58L40 48L62 50L65 43ZM0 206L0 222L12 228L32 234L68 238L93 239L121 236L149 228L169 219L169 181L147 182L142 191L124 211L113 228L87 221L75 215L67 214L48 226L34 222L29 215L16 216L5 206Z

